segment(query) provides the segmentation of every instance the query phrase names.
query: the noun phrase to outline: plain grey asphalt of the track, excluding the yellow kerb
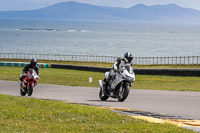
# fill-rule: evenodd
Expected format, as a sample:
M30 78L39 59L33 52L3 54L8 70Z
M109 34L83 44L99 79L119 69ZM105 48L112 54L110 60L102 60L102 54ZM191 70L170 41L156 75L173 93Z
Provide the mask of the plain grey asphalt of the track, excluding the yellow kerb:
M0 93L20 96L18 83L0 80ZM124 102L99 99L99 88L38 84L32 97L97 106L143 110L182 119L200 120L200 92L132 89Z

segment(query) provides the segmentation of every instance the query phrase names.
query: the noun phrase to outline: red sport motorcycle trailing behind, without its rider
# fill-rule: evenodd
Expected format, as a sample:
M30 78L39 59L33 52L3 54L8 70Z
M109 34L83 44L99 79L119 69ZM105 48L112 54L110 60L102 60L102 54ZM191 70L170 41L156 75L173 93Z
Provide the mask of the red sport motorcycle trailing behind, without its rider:
M31 96L33 93L33 88L37 85L37 81L39 76L35 72L34 69L30 69L27 74L21 74L20 76L24 76L22 83L20 84L20 94L21 96L25 96L26 93L28 96Z

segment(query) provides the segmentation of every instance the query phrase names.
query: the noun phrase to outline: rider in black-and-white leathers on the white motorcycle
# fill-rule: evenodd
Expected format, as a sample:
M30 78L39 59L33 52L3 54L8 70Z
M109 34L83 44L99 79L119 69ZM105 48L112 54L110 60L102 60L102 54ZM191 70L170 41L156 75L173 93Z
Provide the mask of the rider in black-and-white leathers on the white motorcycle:
M124 53L124 58L118 58L115 63L112 65L112 69L107 77L104 78L103 80L103 89L106 88L107 83L115 78L115 72L121 72L122 67L125 66L126 64L130 64L133 60L133 56L130 52Z

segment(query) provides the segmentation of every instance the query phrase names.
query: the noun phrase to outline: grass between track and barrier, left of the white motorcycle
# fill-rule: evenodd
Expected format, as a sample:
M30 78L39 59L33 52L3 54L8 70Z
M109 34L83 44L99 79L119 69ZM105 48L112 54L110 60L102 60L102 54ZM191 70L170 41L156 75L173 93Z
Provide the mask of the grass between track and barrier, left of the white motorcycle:
M0 67L0 80L18 81L22 69L22 67ZM104 76L103 73L53 68L41 68L40 75L39 83L87 87L97 87L98 79ZM89 83L89 77L93 77L92 83Z

